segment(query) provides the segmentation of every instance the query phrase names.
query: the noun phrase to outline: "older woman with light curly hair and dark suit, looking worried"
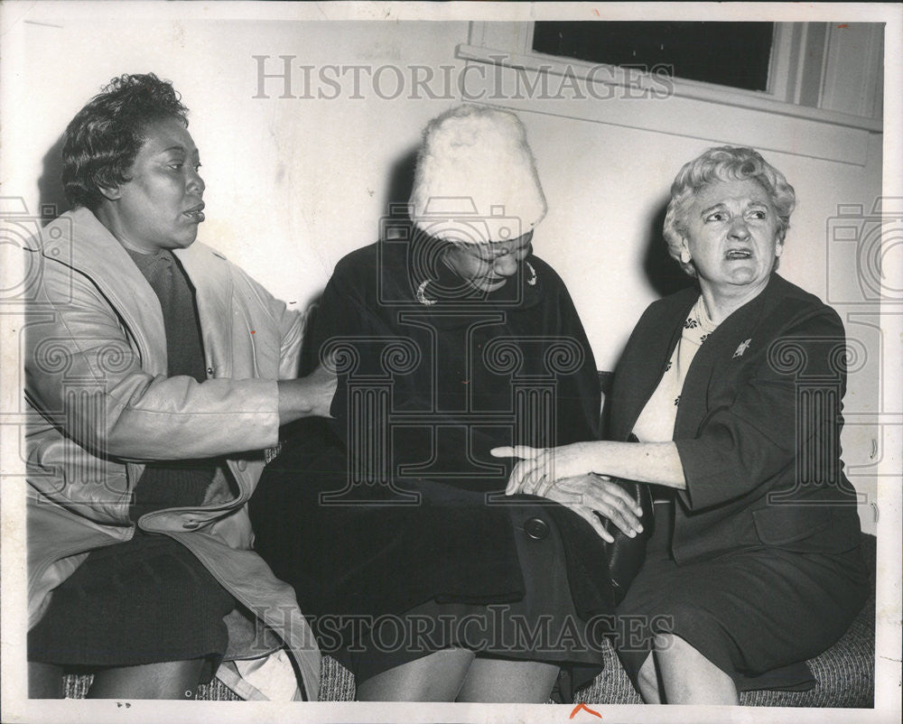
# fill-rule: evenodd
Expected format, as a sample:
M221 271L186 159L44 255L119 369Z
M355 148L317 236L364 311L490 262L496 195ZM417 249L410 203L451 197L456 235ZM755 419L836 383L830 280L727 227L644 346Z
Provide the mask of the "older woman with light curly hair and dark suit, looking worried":
M775 273L794 205L752 149L685 164L665 237L698 285L639 320L615 372L610 441L495 451L525 458L508 493L555 497L559 478L590 472L657 484L647 561L619 605L646 632L619 655L649 703L811 686L805 659L866 596L839 458L842 323ZM583 478L586 494L595 484Z

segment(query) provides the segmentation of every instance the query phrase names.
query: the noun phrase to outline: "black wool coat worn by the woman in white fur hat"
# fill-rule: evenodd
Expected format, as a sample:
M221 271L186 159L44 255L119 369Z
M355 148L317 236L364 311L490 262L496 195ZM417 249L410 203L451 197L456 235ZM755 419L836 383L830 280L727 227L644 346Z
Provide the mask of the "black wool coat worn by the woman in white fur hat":
M302 374L338 350L335 420L286 430L251 506L256 550L309 616L520 599L510 498L487 497L504 490L511 463L489 450L598 439L595 362L552 268L530 255L486 295L435 251L383 241L353 252L312 315ZM599 536L542 502L562 532L578 610L610 612Z

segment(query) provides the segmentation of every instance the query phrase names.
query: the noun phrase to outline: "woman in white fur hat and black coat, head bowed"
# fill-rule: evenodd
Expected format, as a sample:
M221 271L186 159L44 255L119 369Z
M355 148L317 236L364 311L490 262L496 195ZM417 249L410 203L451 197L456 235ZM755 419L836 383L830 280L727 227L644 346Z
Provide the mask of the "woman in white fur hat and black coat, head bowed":
M489 453L599 437L591 348L533 255L545 211L517 116L454 109L424 134L413 224L342 259L312 318L303 369L343 359L335 420L289 431L251 515L359 700L542 702L600 671L650 506L610 481L506 498Z

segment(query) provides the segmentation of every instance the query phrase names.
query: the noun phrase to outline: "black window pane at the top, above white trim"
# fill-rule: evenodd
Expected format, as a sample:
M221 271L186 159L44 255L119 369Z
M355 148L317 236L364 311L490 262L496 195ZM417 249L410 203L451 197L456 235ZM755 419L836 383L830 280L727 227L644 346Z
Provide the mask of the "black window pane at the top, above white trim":
M774 23L535 23L533 50L767 90L773 35Z

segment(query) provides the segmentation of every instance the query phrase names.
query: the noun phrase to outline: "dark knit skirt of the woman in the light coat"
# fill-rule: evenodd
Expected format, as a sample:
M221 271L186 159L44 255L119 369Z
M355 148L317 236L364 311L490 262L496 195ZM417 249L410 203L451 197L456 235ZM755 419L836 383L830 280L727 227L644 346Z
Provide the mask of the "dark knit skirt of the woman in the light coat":
M236 601L165 535L99 548L52 592L28 635L30 661L107 667L203 658L209 681L228 645Z

